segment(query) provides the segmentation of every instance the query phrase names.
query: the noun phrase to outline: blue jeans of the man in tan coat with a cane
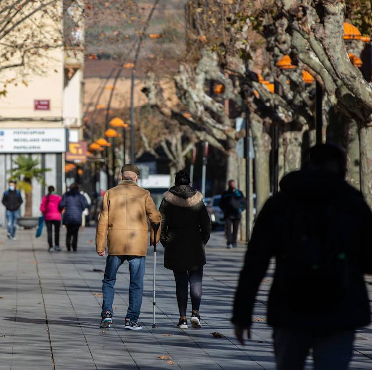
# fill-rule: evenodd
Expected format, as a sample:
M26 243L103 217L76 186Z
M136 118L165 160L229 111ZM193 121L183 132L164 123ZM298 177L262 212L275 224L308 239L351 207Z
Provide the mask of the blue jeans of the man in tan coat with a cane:
M129 307L126 314L127 319L137 321L141 312L143 295L143 277L145 275L145 257L142 256L113 256L108 255L106 259L105 276L102 280L102 314L106 311L113 312L114 285L116 274L124 261L129 263L130 284L129 284Z

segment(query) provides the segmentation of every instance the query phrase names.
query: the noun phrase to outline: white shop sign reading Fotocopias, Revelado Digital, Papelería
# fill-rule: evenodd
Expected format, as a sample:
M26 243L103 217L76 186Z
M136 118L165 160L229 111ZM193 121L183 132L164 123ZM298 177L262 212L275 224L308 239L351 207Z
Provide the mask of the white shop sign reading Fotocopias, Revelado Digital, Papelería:
M66 152L65 128L0 128L0 153Z

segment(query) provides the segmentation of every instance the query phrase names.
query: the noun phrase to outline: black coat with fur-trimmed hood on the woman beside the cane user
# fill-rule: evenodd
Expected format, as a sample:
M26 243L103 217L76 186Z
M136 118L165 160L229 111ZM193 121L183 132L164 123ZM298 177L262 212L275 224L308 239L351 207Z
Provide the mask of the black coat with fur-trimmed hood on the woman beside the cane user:
M204 266L211 223L203 195L186 185L174 186L164 193L159 211L164 267L194 271Z

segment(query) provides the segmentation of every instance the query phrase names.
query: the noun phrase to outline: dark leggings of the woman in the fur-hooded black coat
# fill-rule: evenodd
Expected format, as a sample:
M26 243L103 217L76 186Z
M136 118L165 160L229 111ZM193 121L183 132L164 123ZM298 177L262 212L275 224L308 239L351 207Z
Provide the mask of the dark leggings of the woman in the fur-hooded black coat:
M180 316L186 316L187 313L188 283L190 283L192 310L199 311L203 291L203 267L195 271L173 271L173 274Z

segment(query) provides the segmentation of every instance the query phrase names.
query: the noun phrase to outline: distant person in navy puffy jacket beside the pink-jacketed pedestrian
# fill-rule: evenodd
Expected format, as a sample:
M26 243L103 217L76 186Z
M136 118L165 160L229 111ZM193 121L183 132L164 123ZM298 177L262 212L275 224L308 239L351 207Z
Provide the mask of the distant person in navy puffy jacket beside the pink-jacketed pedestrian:
M70 185L70 190L63 194L60 209L64 209L63 225L66 225L66 247L67 251L77 251L77 235L81 226L81 214L88 207L83 195L79 193L79 186L75 183Z

